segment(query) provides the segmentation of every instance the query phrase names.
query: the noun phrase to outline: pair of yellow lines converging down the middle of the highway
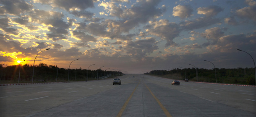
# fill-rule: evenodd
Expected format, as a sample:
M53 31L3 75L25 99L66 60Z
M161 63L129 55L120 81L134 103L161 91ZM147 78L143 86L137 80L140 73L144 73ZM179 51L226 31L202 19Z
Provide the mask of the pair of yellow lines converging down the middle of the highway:
M140 83L138 83L140 84ZM138 87L138 84L137 86L135 87L135 89L133 90L133 92L131 93L131 95L129 96L129 98L125 101L125 104L123 104L123 107L120 109L118 115L116 117L121 117L122 114L123 114L123 111L125 110L128 102L130 101L131 97L133 96L133 93L135 92L135 90L137 89ZM146 84L145 84L146 86ZM164 107L164 105L159 101L159 99L157 99L157 97L151 92L151 90L149 89L148 86L146 86L146 88L149 90L149 92L152 94L152 96L154 97L154 99L156 99L157 103L159 104L159 106L162 108L162 110L165 112L165 115L166 117L172 117L172 115L167 111L167 109Z

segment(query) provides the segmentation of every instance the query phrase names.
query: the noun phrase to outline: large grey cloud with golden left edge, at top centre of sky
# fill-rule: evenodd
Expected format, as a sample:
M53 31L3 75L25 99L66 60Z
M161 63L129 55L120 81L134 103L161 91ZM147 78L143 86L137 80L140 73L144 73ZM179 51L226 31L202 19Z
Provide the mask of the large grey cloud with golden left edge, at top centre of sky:
M119 17L122 20L107 20L110 28L109 30L115 30L128 33L131 29L136 27L139 23L147 23L151 19L158 18L166 12L166 7L156 8L161 0L140 0L131 8L125 6L117 6L114 1L103 2L99 6L104 6L107 13L111 16ZM109 23L111 21L111 23Z

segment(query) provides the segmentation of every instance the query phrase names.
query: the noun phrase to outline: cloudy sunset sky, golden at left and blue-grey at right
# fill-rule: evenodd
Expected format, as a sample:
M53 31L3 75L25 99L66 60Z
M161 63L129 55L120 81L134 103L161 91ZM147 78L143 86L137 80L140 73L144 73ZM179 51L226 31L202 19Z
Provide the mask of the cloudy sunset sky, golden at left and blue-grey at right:
M125 74L254 68L255 46L255 0L0 0L8 66L42 51L35 65Z

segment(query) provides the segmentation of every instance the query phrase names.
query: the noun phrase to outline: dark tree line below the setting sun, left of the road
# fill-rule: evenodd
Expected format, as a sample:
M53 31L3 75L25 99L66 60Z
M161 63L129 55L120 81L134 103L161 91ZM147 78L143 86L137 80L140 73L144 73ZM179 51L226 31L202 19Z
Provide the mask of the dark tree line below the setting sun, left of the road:
M120 71L103 71L101 69L88 70L87 69L69 69L69 81L86 81L88 72L88 80L99 79L101 76L120 76L123 73ZM0 64L0 81L13 81L18 82L20 76L20 82L32 81L33 66L29 64L25 65L12 65L4 66ZM68 81L68 69L59 68L53 65L47 66L47 64L40 63L34 66L34 78L33 82L42 81Z

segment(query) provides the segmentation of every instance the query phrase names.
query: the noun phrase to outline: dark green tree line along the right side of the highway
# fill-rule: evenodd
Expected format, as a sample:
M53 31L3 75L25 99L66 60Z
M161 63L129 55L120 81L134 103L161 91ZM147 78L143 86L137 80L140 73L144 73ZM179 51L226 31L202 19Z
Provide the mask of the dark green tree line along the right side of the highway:
M161 76L169 79L184 80L199 82L214 82L215 83L215 70L214 69L197 69L198 79L196 79L196 69L172 69L172 70L153 70L148 75ZM225 69L216 68L217 83L227 84L248 84L255 85L255 73L254 68L236 68Z

